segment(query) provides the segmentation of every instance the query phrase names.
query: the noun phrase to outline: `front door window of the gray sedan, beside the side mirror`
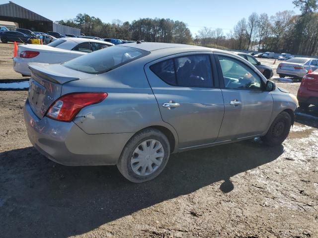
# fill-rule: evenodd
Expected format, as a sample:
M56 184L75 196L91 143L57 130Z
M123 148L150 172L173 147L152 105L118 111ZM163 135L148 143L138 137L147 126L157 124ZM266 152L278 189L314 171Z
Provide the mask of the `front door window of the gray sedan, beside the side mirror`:
M260 90L261 78L247 65L230 57L218 56L226 88Z

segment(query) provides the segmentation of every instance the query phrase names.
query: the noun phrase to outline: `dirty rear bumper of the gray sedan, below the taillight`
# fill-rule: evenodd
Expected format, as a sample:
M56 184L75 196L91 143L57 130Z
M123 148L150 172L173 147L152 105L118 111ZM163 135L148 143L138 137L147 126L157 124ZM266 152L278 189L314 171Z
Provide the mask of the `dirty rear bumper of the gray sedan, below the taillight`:
M28 137L44 156L62 165L115 165L133 133L86 134L73 121L39 119L26 101Z

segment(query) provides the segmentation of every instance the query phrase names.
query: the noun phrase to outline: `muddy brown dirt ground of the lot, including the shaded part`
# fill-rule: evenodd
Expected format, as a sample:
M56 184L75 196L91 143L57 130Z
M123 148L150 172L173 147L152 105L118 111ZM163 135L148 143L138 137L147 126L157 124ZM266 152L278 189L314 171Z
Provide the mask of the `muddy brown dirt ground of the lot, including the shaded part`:
M0 64L0 78L18 78L10 70ZM277 86L296 94L299 83ZM25 130L26 97L0 91L1 238L318 237L317 107L297 111L282 146L249 140L175 154L157 179L134 184L115 166L40 155Z

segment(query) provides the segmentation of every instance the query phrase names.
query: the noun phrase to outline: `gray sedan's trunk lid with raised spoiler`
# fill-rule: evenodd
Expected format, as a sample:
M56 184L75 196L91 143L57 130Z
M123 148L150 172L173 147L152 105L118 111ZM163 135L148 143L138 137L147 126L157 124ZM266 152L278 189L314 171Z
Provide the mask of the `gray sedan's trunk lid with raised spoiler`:
M61 97L63 84L92 77L85 73L68 69L61 64L29 63L28 101L35 115L42 119L52 103Z

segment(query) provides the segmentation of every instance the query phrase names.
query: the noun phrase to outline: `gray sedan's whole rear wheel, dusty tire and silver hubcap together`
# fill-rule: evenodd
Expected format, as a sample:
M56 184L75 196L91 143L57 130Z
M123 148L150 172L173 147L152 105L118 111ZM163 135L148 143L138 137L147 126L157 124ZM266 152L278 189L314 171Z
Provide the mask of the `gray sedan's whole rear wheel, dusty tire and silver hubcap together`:
M151 151L152 143L154 143L153 149L161 147L157 151ZM146 151L144 155L143 151ZM135 134L127 142L117 162L117 168L131 182L146 182L155 179L162 172L169 156L170 145L167 137L158 129L147 128Z

